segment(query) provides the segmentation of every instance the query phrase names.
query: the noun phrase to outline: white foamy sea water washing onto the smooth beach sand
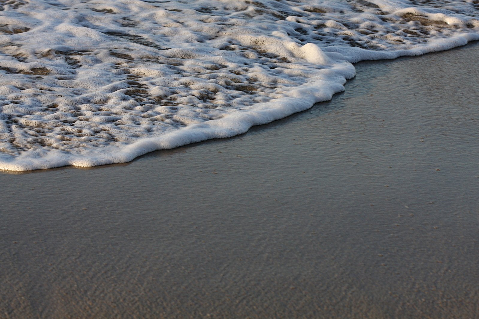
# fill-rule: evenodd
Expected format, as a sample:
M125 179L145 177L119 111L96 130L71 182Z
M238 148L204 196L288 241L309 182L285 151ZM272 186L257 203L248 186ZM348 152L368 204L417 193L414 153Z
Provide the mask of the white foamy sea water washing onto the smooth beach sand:
M331 99L352 63L479 40L477 2L0 1L0 169L246 132Z

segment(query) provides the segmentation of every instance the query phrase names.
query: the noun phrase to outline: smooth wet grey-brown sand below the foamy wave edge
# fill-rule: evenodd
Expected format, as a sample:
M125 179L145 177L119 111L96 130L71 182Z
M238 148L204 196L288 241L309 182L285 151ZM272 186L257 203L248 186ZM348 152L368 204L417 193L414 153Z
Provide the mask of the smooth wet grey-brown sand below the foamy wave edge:
M0 318L479 318L479 45L124 165L0 173Z

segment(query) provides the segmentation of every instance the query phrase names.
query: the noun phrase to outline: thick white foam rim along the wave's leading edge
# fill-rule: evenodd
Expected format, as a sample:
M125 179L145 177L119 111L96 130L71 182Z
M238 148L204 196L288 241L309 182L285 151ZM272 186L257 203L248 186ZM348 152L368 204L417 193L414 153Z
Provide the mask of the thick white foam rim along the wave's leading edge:
M350 61L348 61L348 59L346 59L344 56L342 58L345 59L344 62L348 61L355 64L365 61L387 61L385 59L420 56L425 54L453 50L455 48L468 45L468 43L473 44L477 41L479 41L479 34L465 33L457 35L450 39L433 41L432 44L423 45L422 47L420 46L414 49L388 52L363 52L363 50L358 51L358 54L362 55L361 57L356 57L353 60L350 59ZM436 44L436 42L438 44ZM330 53L335 53L335 51L331 51ZM372 54L373 56L382 55L383 59L379 60L373 57L369 59L367 58L367 54ZM337 64L339 65L342 63ZM355 75L353 75L355 71L351 72L348 67L338 65L334 64L331 70L338 68L339 70L335 70L334 72L338 73L337 76L344 77L345 83L347 80L355 77ZM68 153L59 153L56 150L51 150L52 153L44 154L44 157L42 158L42 160L40 160L40 162L38 162L37 158L28 157L26 159L22 158L11 162L0 162L0 165L3 165L3 167L10 167L9 169L0 169L0 172L49 169L62 166L92 167L99 165L128 163L139 156L155 151L173 149L176 147L181 147L193 143L201 143L211 139L231 138L233 136L248 132L251 127L268 124L272 121L278 121L285 117L291 116L292 114L309 110L316 104L313 103L311 105L311 100L319 99L321 100L321 102L331 100L335 94L344 90L343 86L345 84L343 83L341 86L338 83L334 83L331 81L331 83L328 83L328 85L324 85L324 87L315 87L314 85L312 85L312 83L313 82L307 82L302 86L295 88L293 90L292 96L290 97L283 97L282 99L278 99L278 101L274 102L270 101L266 103L260 103L257 108L254 108L252 110L242 110L240 112L228 113L227 116L221 119L210 120L201 124L186 126L178 131L172 131L156 137L144 138L135 143L124 145L123 147L118 147L115 145L105 146L106 149L109 149L110 151L114 150L115 152L103 152L103 154L97 154L96 152L91 152L91 150L89 150L86 151L86 156L84 154L77 154L76 156L74 156ZM309 91L310 93L310 96L308 96L309 99L301 99L297 103L295 103L294 107L291 107L291 102L289 102L288 104L288 99L294 99L293 96L297 94L295 92L305 90ZM320 91L320 97L311 94L312 91ZM271 107L270 105L273 104L274 107ZM280 106L278 106L278 104ZM311 106L308 107L308 105ZM205 127L207 127L208 129L205 130ZM185 142L185 140L189 142ZM73 156L73 158L70 158L71 156ZM46 158L49 159L48 162L46 162ZM51 164L51 162L55 162L55 164ZM46 166L52 167L45 168ZM27 169L26 167L29 168Z

